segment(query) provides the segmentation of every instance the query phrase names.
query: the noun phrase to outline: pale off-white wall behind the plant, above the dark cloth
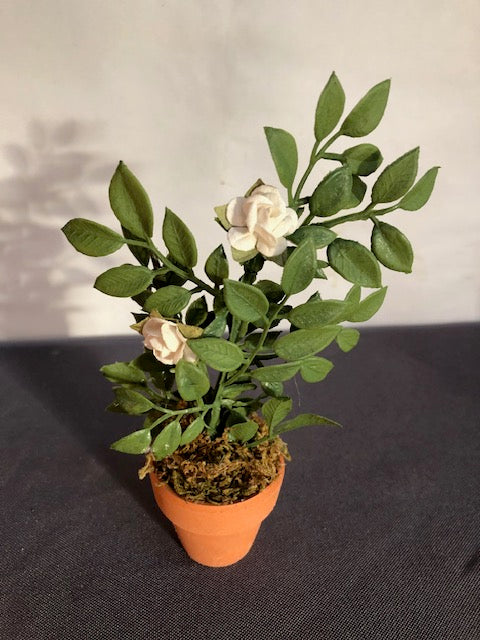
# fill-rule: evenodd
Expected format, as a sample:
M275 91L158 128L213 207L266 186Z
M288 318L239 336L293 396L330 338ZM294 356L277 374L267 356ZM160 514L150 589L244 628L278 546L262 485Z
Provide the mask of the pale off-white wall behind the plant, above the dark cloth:
M476 0L4 0L0 339L127 333L132 303L92 283L128 252L82 256L60 227L113 221L108 181L123 159L157 228L168 205L205 258L225 239L212 207L260 176L277 184L264 125L291 131L306 164L332 70L347 109L392 78L369 136L386 163L420 145L420 172L442 167L424 210L387 218L416 259L409 276L384 272L389 294L372 322L478 319L479 28ZM352 237L360 225L349 226Z

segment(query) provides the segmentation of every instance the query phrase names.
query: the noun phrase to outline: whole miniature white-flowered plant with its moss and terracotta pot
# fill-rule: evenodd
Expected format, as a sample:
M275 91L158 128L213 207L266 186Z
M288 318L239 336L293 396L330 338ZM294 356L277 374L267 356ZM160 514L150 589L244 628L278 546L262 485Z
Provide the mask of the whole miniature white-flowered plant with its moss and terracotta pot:
M150 476L160 508L203 564L224 566L248 552L289 459L281 435L308 425L338 426L317 414L291 417L283 383L296 375L318 383L333 367L319 355L328 345L335 342L344 352L355 347L359 332L343 323L365 322L380 308L387 291L381 265L411 271L411 245L385 216L423 207L438 167L416 181L419 149L407 151L373 177L364 202L365 178L383 162L380 150L361 143L330 151L338 139L360 138L377 127L389 86L388 80L375 85L342 118L345 95L332 73L300 177L293 136L265 128L286 196L257 180L244 196L215 208L222 241L241 265L238 279L230 277L223 244L200 272L195 238L169 209L162 245L154 243L149 198L122 162L109 190L119 232L82 218L63 228L81 253L104 256L127 245L138 262L95 281L107 295L133 299L139 309L132 328L143 337L137 358L101 369L114 385L109 409L142 420L112 448L146 456L140 477ZM332 170L305 194L320 160L331 162ZM369 248L339 235L340 226L354 221L371 225ZM262 277L266 262L276 265L275 280ZM322 281L332 272L351 284L343 299L321 297ZM308 299L296 297L312 284Z

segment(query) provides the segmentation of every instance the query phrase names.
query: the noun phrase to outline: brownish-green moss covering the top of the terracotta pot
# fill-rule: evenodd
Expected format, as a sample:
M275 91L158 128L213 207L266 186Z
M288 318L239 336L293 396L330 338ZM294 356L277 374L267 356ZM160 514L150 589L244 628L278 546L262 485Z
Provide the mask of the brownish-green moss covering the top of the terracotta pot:
M256 438L268 435L265 422L251 418L259 425ZM153 467L158 481L186 500L231 504L251 498L273 482L283 459L290 460L290 455L279 437L246 447L230 442L227 429L214 440L202 433L163 460L147 460L145 468Z

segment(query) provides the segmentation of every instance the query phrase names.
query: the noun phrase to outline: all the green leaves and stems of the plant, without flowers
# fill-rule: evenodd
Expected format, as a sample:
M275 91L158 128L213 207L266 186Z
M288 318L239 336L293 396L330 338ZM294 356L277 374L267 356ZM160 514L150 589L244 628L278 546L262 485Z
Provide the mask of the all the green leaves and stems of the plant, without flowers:
M95 288L110 296L132 298L140 307L133 325L139 332L151 316L175 322L197 357L195 362L181 359L172 366L145 349L131 362L102 367L114 385L115 399L109 409L143 419L142 428L115 442L114 449L150 453L159 461L201 434L212 439L224 434L231 442L257 447L299 427L338 426L316 414L289 418L292 402L283 383L296 375L308 383L322 381L333 362L321 352L332 343L347 352L358 342L358 330L344 323L365 322L380 309L387 291L382 268L410 273L411 244L383 217L423 207L438 172L438 167L432 167L417 179L418 147L383 169L382 152L371 142L329 151L340 138L360 138L375 130L389 89L389 80L380 82L344 115L345 93L332 73L317 102L313 148L301 176L293 135L265 128L279 181L298 216L287 249L270 259L280 268L278 281L262 279L267 258L257 250L232 250L243 275L239 280L230 278L229 259L221 244L210 253L199 275L195 238L168 208L158 247L148 195L123 162L109 189L119 230L83 218L64 226L69 242L88 256L128 247L135 264L108 269L97 277ZM333 168L305 194L307 180L320 160L332 162ZM263 183L257 181L247 195L259 184ZM216 207L215 213L228 230L226 205ZM337 227L352 222L371 225L369 246L338 233ZM344 299L323 299L317 291L306 302L292 300L332 272L352 285ZM276 330L282 320L289 325L287 333ZM262 412L268 428L261 437L259 423L252 418L256 411Z

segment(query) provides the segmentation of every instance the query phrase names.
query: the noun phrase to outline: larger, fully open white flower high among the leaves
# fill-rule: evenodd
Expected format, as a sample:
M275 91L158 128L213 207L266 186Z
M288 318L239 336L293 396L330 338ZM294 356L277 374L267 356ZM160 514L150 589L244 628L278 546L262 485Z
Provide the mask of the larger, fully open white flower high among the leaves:
M257 187L247 198L234 198L227 205L232 225L228 240L234 249L257 249L270 258L285 251L285 236L295 231L297 214L288 209L278 189L268 184Z

